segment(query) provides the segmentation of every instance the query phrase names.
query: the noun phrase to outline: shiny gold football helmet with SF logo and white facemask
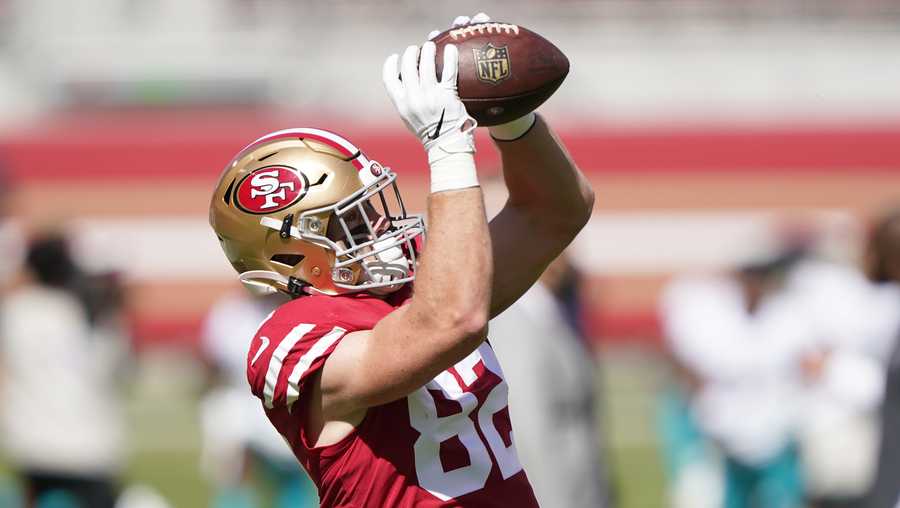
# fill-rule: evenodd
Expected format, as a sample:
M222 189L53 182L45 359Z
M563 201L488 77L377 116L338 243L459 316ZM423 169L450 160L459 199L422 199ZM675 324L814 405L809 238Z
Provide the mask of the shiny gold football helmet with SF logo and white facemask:
M209 223L256 293L385 294L413 280L425 232L396 179L337 134L277 131L225 168Z

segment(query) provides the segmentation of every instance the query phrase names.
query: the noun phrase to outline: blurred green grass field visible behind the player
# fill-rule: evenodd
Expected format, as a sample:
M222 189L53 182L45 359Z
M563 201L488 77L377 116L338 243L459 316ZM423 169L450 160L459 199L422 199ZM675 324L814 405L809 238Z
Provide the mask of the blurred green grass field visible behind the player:
M612 351L604 352L602 365L603 432L618 506L662 508L663 472L653 421L660 364L652 355ZM199 467L199 391L195 366L164 354L145 357L128 399L132 441L126 483L153 488L175 508L209 506L212 494ZM12 481L8 466L0 464L0 487Z

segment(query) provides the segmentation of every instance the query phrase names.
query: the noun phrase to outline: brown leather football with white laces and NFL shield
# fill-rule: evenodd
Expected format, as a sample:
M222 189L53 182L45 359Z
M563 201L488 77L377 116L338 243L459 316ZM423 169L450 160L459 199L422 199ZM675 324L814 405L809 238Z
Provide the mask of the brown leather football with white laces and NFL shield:
M438 79L444 46L459 50L459 97L479 125L497 125L543 104L569 73L569 59L524 27L501 22L453 28L434 38Z

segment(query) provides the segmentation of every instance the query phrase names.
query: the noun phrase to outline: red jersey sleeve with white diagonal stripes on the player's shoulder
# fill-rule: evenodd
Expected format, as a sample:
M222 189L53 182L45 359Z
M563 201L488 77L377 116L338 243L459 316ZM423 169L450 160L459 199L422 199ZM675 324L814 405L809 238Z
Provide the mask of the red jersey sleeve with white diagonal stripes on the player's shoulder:
M325 364L347 330L334 323L263 322L247 355L247 380L267 409L287 407L300 398L306 380Z

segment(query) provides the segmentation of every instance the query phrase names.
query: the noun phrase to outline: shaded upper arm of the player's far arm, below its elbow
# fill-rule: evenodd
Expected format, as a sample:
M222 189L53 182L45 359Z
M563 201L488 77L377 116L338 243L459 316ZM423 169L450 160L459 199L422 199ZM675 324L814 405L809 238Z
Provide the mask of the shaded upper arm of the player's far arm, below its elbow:
M507 203L491 220L494 283L490 314L493 318L530 288L568 243L568 238L535 217L534 212Z

